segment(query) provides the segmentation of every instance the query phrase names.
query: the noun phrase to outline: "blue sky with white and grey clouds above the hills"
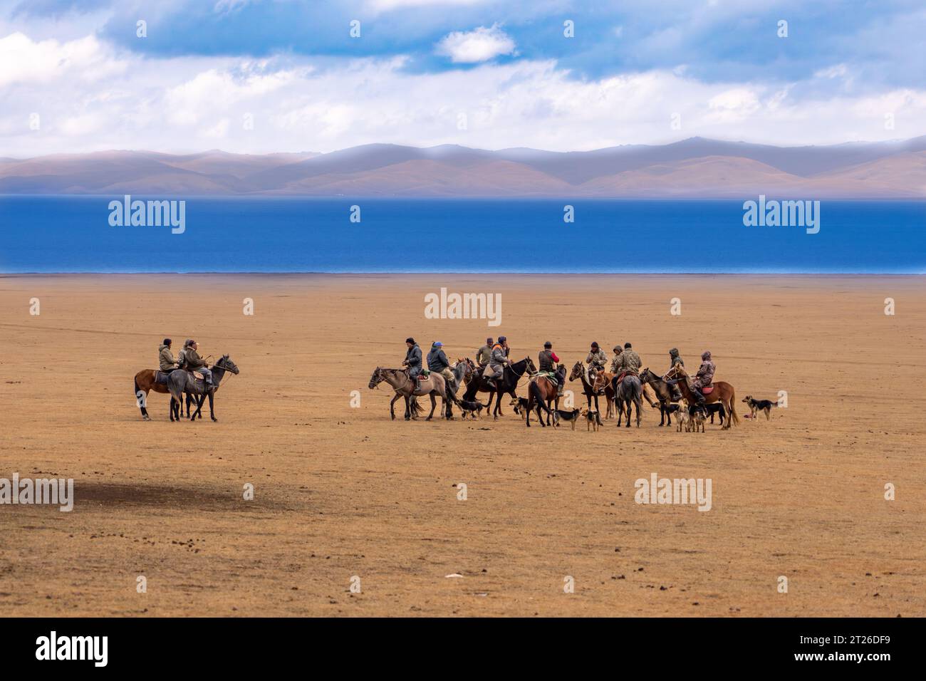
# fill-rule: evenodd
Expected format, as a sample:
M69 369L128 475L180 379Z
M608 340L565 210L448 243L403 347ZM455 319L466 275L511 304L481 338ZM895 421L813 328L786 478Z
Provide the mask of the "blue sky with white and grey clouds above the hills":
M926 134L922 0L0 0L0 157Z

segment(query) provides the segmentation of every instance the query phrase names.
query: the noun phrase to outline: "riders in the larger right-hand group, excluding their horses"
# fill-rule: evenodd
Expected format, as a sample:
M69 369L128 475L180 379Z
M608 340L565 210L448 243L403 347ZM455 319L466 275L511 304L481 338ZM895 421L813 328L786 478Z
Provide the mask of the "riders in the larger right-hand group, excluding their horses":
M167 342L167 339L165 342ZM422 370L421 348L415 342L414 338L406 338L406 346L408 348L406 359L402 362L402 365L408 368L408 375L410 378L417 379ZM456 380L453 372L450 370L450 362L444 354L443 347L443 343L434 341L431 352L428 353L428 370L440 373L451 385L454 385ZM482 371L482 377L487 381L497 381L502 378L505 367L511 364L511 360L508 359L510 350L511 348L508 347L508 339L506 336L498 336L497 342L493 342L492 338L486 338L485 345L476 350L476 363L479 365L479 370ZM617 375L618 383L626 376L640 375L640 367L643 366L643 361L630 343L625 343L623 347L619 345L613 347L613 352L614 357L611 358L610 370L611 373ZM557 372L557 363L560 359L553 351L553 344L550 341L544 343L544 349L540 351L537 359L538 375L548 377L551 381L554 381L557 384L557 395L561 396L563 394L563 385L566 381L566 376ZM607 355L605 351L598 346L597 342L593 342L592 346L589 348L588 355L585 357L585 363L588 364L590 370L594 369L594 371L598 373L605 371L605 367L607 366ZM682 367L685 365L679 355L679 349L673 347L669 350L669 372L679 364L682 365ZM711 384L714 379L714 372L716 371L717 367L711 360L710 352L705 351L701 355L701 366L698 367L691 385L692 392L699 405L705 403L705 397L701 391ZM675 401L682 399L682 392L677 385L678 382L679 379L666 379L666 383L669 384L669 388L672 391L672 399Z

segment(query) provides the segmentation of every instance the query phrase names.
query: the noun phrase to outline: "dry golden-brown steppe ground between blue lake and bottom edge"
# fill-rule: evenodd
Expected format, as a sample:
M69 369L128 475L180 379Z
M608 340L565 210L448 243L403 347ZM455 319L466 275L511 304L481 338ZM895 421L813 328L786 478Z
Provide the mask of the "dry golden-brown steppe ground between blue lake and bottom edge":
M502 325L426 320L441 286L501 293ZM789 407L592 434L391 422L367 388L408 334L456 359L487 332L569 365L631 340L660 372L709 348L738 398ZM0 615L922 616L924 334L916 277L7 276L0 477L72 477L76 503L0 506ZM218 423L154 394L141 420L164 335L241 367ZM654 472L711 478L712 510L634 503Z

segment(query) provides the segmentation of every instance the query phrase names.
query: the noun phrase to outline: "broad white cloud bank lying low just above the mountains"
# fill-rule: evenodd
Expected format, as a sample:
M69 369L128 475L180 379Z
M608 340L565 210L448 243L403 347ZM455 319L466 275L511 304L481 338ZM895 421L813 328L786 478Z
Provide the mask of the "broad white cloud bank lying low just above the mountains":
M552 60L419 72L403 57L156 59L90 37L72 43L0 39L12 57L0 59L0 157L377 142L568 151L695 135L801 145L926 133L926 91L910 88L833 95L812 87L820 81L708 83L683 69L578 80ZM54 59L39 54L45 48ZM38 131L29 128L31 113L41 116ZM670 125L674 113L681 130ZM886 113L893 130L884 129ZM467 130L457 128L460 114Z

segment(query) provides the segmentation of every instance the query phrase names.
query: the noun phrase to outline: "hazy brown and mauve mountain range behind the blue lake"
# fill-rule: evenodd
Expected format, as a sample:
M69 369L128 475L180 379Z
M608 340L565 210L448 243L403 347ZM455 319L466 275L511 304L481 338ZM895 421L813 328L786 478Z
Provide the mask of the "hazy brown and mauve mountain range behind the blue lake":
M441 145L330 154L105 151L0 158L0 194L926 197L926 136L770 146L701 137L582 152Z

